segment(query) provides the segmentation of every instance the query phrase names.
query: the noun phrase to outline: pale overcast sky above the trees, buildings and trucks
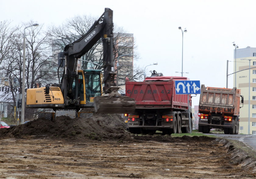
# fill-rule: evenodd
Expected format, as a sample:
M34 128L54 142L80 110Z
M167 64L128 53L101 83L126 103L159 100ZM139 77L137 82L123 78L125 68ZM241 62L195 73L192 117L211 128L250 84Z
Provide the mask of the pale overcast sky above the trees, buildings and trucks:
M133 33L141 67L181 76L182 33L183 76L211 87L226 87L226 63L233 73L233 41L239 48L256 47L254 0L0 0L2 20L14 25L32 20L39 25L60 25L75 15L101 16L113 10L113 21ZM233 75L229 77L233 88ZM198 97L192 105L198 105Z

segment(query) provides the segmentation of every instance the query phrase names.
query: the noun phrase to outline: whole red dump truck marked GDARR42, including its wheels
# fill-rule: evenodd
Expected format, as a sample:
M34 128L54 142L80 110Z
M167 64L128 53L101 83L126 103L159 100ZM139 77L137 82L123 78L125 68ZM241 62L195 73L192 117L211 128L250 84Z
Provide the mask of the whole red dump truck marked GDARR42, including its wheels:
M126 96L135 99L136 109L128 115L128 129L131 133L163 134L190 133L192 111L191 96L188 109L187 95L176 95L175 80L189 80L186 77L155 76L143 82L126 79Z

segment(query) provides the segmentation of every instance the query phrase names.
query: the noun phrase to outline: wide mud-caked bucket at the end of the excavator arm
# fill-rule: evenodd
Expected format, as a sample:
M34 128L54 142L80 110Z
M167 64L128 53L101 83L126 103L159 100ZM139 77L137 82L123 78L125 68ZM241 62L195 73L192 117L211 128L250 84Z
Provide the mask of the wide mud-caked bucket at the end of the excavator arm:
M125 114L135 111L135 100L127 96L109 97L99 96L94 98L94 109L97 113Z

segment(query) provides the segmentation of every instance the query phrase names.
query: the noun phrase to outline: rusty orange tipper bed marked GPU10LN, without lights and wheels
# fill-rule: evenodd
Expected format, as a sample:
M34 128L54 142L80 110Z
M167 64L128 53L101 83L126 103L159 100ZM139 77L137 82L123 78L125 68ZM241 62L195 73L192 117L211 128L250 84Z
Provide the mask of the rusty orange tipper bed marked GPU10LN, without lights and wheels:
M239 115L240 90L201 86L200 113L225 113Z

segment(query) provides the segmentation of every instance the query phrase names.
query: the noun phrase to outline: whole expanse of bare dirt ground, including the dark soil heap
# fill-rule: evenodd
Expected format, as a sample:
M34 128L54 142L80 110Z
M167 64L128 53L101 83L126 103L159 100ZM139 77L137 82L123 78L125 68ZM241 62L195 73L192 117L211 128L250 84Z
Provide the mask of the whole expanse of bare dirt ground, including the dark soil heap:
M224 139L125 128L119 115L85 113L1 129L0 178L256 177L255 159Z

